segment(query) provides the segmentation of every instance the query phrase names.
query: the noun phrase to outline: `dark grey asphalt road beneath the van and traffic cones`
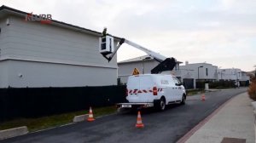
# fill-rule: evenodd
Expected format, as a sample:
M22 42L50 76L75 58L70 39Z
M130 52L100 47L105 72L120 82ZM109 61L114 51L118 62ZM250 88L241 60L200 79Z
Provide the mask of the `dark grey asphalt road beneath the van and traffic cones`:
M93 123L72 125L26 134L0 143L87 143L87 142L176 142L226 100L246 89L230 89L188 97L185 106L169 106L165 112L143 110L145 128L135 128L137 113L114 114Z

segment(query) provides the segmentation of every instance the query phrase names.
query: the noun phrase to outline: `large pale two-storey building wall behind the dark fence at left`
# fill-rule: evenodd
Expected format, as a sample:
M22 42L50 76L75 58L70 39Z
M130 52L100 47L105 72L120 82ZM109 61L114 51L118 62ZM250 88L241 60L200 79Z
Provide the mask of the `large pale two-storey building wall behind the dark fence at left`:
M116 56L99 53L100 32L57 20L26 21L28 13L0 7L0 88L114 85Z

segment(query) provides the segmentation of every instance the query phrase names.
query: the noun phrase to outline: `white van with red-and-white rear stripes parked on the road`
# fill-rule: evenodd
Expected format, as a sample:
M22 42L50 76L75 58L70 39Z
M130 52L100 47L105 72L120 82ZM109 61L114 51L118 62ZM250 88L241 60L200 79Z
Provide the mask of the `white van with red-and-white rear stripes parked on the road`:
M184 104L186 91L177 77L172 75L143 74L128 77L126 99L119 103L123 108L154 106L164 111L166 105Z

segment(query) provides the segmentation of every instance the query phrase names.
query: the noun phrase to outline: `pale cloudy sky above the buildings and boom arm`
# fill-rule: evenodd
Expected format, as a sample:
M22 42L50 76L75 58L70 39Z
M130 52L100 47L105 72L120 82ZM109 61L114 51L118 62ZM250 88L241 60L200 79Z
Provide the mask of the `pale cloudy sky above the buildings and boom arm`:
M166 57L219 68L253 71L256 65L255 0L0 0L33 14L125 37ZM128 45L118 61L145 53Z

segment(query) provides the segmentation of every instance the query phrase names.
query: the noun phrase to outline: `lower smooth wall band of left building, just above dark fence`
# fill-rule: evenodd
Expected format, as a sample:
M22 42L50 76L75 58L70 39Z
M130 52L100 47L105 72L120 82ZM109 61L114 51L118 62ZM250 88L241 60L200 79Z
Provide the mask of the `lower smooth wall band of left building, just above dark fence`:
M0 61L0 64L6 72L0 76L8 77L8 81L0 80L0 88L7 88L8 86L15 88L81 87L117 84L117 70L114 68L20 60L4 60ZM2 71L0 70L0 72Z

